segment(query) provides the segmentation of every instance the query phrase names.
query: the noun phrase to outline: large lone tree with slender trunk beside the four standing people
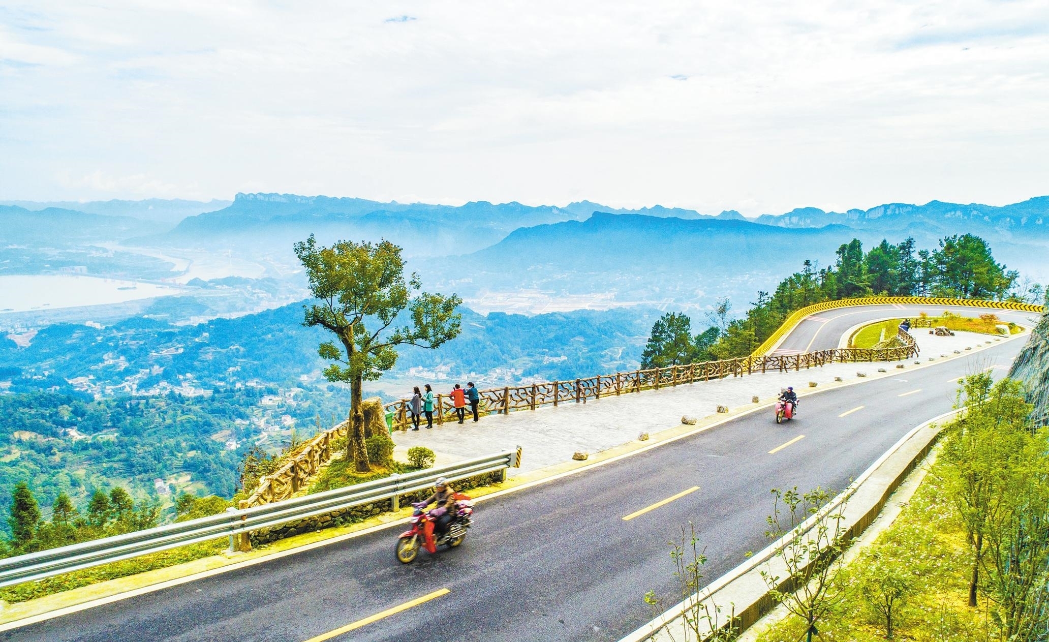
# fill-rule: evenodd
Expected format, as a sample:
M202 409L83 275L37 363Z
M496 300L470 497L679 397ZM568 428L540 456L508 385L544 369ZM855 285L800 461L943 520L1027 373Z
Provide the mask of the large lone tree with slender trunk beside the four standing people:
M309 291L319 302L304 306L302 324L320 325L336 336L317 352L333 363L324 368L328 381L349 384L349 438L347 456L357 470L370 470L364 445L361 386L374 381L397 362L397 347L435 348L459 334L462 317L452 295L420 293L419 275L405 281L401 248L383 240L337 241L319 247L314 236L295 243L295 255L306 269ZM394 326L407 311L410 325ZM406 320L406 321L407 321ZM340 348L341 346L341 348Z

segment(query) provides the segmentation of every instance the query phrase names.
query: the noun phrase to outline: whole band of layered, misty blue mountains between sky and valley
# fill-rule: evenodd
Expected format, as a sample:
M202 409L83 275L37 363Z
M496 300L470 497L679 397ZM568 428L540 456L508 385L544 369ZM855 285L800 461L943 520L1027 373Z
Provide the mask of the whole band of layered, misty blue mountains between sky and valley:
M972 232L986 238L1010 268L1049 278L1041 258L1049 245L1049 196L1003 207L934 200L841 213L801 208L756 218L731 210L707 215L662 206L618 209L587 200L564 207L443 206L295 194L237 194L232 201L209 202L62 204L77 210L43 207L48 205L0 206L0 242L111 240L248 257L265 254L294 265L292 243L309 234L321 242L388 238L405 249L413 268L435 274L441 282L456 287L473 282L463 290L481 290L473 277L464 276L469 273L485 275L486 287L547 287L555 278L576 283L573 291L598 292L590 288L599 286L598 275L606 273L620 285L624 279L638 281L631 291L642 292L651 290L646 279L657 274L681 280L702 272L740 280L741 275L768 271L778 278L804 258L829 263L834 250L853 237L870 244L914 236L919 247L928 248L945 235ZM590 276L570 276L577 274Z

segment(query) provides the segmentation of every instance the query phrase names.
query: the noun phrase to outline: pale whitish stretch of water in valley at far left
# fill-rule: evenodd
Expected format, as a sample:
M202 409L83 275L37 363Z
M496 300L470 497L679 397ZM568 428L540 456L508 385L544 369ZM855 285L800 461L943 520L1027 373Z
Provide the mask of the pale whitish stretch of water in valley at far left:
M0 276L0 314L122 303L180 292L168 285L72 274Z

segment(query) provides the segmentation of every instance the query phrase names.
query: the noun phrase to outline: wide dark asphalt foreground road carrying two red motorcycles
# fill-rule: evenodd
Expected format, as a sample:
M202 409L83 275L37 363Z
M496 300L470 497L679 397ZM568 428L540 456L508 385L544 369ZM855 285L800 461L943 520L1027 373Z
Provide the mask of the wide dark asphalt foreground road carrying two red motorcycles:
M911 428L949 410L956 378L988 367L1000 376L1022 345L1003 343L830 389L804 398L799 418L784 425L771 409L761 410L480 502L464 545L423 553L409 565L393 558L402 528L394 527L0 639L303 642L444 588L443 596L331 639L617 640L650 619L646 591L679 598L667 542L688 521L706 547L712 580L767 544L769 489L845 487ZM623 519L692 487L699 490Z

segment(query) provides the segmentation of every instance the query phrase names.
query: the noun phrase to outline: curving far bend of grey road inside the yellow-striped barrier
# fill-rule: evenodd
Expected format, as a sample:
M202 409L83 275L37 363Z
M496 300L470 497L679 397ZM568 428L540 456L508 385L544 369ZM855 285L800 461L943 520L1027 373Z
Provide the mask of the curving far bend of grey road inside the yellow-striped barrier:
M1003 322L1013 321L1021 325L1031 327L1037 323L1037 316L1031 313L1014 312L1007 309L988 309L986 307L970 307L963 305L858 305L856 307L842 307L838 309L828 309L816 313L801 320L794 330L784 339L783 343L772 352L774 355L796 355L812 350L822 350L838 347L841 337L849 331L849 328L883 318L915 318L919 313L928 313L929 316L939 315L943 311L961 315L963 317L979 317L980 315L991 313L997 315ZM1033 321L1032 321L1033 319ZM915 328L912 331L928 331L923 328Z

